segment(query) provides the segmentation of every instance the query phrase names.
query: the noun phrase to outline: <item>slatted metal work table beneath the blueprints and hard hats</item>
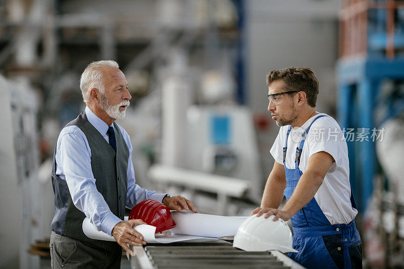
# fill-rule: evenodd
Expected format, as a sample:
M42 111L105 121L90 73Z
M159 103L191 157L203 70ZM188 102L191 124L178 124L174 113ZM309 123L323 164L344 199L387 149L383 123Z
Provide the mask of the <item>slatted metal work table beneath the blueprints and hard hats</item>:
M219 243L220 242L220 243ZM131 246L132 269L151 268L304 268L279 251L247 252L231 243L193 242Z

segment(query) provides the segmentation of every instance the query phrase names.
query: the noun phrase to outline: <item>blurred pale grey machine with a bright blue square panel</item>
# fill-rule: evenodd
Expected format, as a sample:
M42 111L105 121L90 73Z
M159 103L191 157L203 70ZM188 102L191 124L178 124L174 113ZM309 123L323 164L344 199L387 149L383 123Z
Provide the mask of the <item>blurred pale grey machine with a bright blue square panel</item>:
M260 203L259 153L248 109L231 105L191 106L187 111L187 129L187 167L244 179L249 187L245 197Z

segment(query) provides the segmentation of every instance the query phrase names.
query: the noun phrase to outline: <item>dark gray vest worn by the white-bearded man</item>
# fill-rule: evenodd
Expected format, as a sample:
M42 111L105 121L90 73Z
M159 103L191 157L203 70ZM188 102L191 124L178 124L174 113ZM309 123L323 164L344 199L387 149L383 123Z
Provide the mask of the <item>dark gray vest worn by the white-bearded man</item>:
M115 123L113 124L117 141L117 152L115 153L105 138L88 122L85 112L68 123L66 127L72 125L79 127L87 138L91 149L91 170L98 192L103 195L115 216L123 220L128 186L129 149L119 127ZM66 181L56 175L55 156L52 185L55 192L55 216L51 224L52 231L104 249L119 246L116 242L90 239L83 233L82 223L85 214L73 204Z

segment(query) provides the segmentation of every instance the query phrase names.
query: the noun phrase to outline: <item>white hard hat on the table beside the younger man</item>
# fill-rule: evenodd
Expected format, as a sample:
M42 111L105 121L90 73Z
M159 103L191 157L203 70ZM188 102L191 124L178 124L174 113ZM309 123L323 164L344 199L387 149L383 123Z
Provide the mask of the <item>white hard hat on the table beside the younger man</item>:
M282 220L272 221L257 214L247 218L234 236L233 247L245 251L279 250L280 252L298 252L292 248L292 233Z

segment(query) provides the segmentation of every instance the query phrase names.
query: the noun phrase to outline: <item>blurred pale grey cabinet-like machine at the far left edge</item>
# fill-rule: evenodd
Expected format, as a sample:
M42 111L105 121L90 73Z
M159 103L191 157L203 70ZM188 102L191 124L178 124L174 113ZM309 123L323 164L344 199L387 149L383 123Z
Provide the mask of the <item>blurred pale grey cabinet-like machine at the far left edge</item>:
M0 151L0 267L37 267L38 257L27 250L42 239L41 186L37 110L38 97L27 80L0 75L3 135Z

